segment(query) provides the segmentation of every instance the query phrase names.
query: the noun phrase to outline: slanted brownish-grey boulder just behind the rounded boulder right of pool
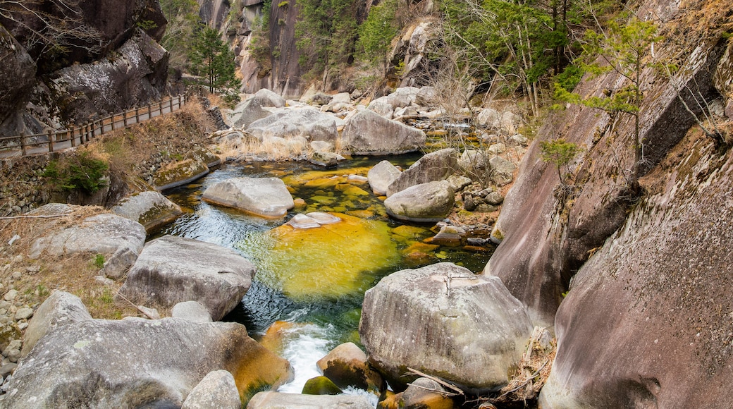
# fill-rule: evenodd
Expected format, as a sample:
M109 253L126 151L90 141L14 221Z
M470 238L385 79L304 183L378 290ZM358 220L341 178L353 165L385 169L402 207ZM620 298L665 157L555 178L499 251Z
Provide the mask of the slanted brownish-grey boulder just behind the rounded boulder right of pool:
M422 183L446 180L458 169L457 152L446 148L424 155L387 187L387 197Z

